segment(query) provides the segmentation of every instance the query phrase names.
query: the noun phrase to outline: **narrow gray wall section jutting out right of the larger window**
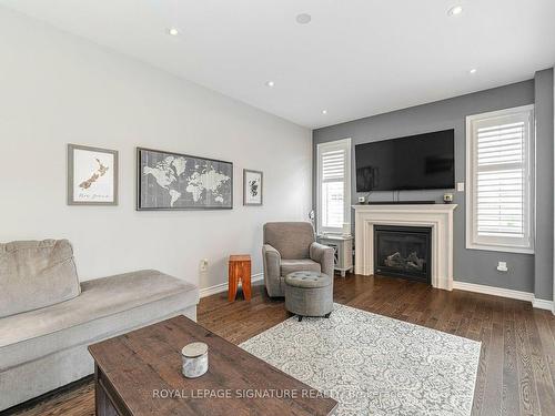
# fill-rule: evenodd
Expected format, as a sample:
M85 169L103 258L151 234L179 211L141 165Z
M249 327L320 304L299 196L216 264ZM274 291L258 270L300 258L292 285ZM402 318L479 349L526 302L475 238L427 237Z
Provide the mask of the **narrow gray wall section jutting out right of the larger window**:
M534 295L553 297L553 69L534 77L536 114L536 250Z

